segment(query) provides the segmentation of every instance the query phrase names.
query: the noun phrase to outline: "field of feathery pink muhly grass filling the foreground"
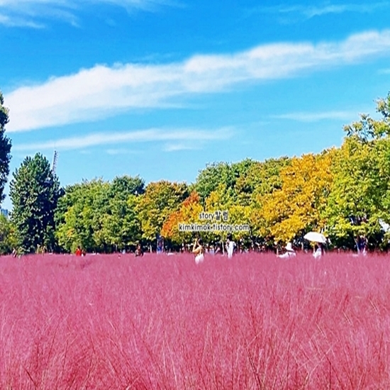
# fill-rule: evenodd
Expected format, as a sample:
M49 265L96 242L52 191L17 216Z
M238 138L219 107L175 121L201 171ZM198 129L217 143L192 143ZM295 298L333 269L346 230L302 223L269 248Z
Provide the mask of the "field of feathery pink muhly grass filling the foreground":
M389 389L389 257L0 258L0 389Z

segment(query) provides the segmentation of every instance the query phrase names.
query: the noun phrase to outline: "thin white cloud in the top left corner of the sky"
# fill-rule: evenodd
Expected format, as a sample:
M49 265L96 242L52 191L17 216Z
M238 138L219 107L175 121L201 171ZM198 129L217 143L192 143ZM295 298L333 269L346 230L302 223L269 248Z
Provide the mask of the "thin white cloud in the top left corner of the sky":
M78 14L87 6L108 4L132 11L154 11L173 5L170 0L0 0L0 24L10 27L42 28L48 19L62 20L74 26Z

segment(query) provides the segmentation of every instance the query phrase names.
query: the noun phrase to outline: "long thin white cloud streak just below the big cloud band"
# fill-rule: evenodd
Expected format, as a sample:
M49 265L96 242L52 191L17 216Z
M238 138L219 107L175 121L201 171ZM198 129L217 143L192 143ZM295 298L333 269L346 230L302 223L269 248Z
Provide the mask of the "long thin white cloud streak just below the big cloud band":
M16 152L41 151L41 150L76 150L99 145L115 145L124 143L165 143L164 149L169 145L189 145L189 142L199 145L213 140L225 140L233 136L233 128L219 128L216 130L193 130L193 129L148 129L133 130L121 133L92 133L89 135L61 138L38 143L25 143L13 145ZM123 149L121 149L123 150ZM177 149L176 149L177 150ZM113 149L111 149L113 152ZM111 153L112 154L112 153Z

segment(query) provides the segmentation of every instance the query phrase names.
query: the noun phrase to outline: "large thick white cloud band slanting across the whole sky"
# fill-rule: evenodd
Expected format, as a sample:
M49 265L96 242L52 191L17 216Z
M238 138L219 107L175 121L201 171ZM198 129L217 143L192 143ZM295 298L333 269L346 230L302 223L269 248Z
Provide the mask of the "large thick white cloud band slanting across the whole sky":
M295 77L380 55L390 55L390 30L355 34L340 42L274 43L231 55L195 55L165 65L96 65L5 94L10 108L7 130L94 121L134 108L177 106L194 94Z

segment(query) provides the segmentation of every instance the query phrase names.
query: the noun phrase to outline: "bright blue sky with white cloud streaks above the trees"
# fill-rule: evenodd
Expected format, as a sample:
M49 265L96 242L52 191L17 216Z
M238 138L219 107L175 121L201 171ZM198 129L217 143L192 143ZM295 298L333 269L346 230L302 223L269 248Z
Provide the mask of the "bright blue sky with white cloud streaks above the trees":
M375 116L390 4L0 0L0 89L10 179L57 150L64 186L190 183L209 162L340 146L343 125Z

